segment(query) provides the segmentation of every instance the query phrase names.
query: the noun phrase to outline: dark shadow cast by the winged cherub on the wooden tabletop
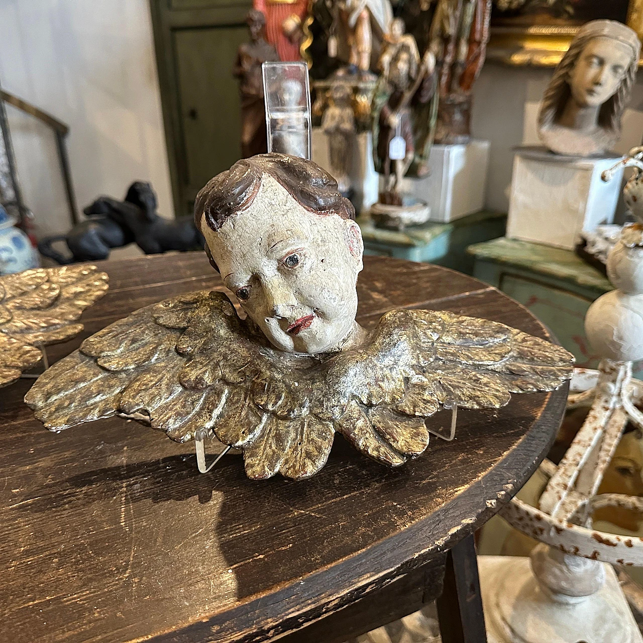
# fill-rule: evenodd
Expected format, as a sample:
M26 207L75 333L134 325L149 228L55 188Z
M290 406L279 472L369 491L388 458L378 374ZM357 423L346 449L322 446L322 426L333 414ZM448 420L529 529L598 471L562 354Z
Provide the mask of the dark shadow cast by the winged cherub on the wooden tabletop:
M448 419L446 414L442 419ZM462 420L463 438L482 433L482 414L463 413ZM212 525L224 568L233 570L242 599L372 547L412 523L417 511L424 515L428 505L439 509L457 493L455 485L471 458L475 450L462 453L454 443L436 439L430 453L388 469L359 455L337 435L320 473L295 482L281 476L248 480L240 455L226 455L203 475L194 453L181 453L52 480L33 491L19 511L65 512L70 503L101 507L125 489L134 508L143 500L158 504L198 498L202 510L194 503L170 509L173 520L181 520L186 511L203 513L203 524ZM216 506L209 504L213 492L219 495ZM158 510L146 520L152 516L166 520Z

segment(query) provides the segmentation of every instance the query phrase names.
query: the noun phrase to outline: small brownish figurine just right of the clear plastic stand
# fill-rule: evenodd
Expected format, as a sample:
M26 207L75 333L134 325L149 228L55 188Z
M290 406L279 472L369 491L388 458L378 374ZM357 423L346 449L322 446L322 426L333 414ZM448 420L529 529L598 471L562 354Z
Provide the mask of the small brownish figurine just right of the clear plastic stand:
M328 137L331 174L337 181L338 190L347 196L350 192L349 168L355 116L350 100L350 88L341 81L331 86L331 104L321 118L321 129Z

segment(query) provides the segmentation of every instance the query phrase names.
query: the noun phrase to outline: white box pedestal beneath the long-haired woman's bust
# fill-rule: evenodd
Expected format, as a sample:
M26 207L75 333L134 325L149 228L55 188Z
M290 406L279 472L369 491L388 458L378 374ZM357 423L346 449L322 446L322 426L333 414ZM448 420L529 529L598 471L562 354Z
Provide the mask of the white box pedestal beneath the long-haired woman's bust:
M518 148L507 237L573 250L581 231L613 221L623 170L608 183L601 180L601 172L619 158L567 157L542 148Z

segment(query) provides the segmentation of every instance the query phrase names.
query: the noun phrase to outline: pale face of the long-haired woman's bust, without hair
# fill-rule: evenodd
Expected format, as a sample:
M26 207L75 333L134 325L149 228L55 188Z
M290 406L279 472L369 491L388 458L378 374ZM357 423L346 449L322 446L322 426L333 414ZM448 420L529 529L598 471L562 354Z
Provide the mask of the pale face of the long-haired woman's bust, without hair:
M586 44L570 73L572 96L581 107L599 107L619 89L631 63L632 51L612 38Z

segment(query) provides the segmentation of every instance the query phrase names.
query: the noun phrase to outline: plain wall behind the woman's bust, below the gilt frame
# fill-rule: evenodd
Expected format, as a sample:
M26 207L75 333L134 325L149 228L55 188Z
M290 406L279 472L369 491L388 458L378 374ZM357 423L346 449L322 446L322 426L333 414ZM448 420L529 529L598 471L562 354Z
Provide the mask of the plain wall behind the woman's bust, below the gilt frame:
M471 131L491 141L487 178L487 207L507 212L511 183L512 148L540 145L536 122L541 97L552 69L508 67L487 62L475 85ZM617 152L641 144L643 136L643 73L639 73L632 100L623 119Z

